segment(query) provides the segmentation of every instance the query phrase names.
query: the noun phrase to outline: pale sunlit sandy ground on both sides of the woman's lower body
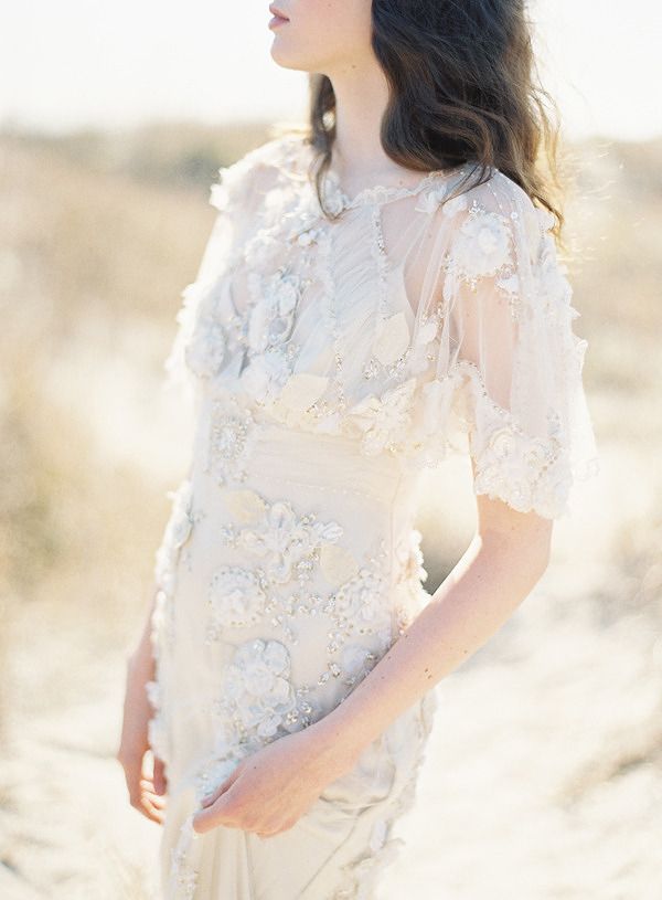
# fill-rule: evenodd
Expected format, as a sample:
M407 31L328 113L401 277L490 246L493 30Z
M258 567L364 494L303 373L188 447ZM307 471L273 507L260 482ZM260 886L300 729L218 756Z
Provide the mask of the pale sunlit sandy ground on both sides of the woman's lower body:
M618 479L618 449L602 457ZM598 491L584 488L589 511L557 526L534 593L437 686L417 802L396 827L406 843L378 900L662 897L662 639L649 615L613 602L633 585L609 569ZM621 519L645 513L651 495L628 496ZM99 652L84 623L38 604L14 620L11 645L0 896L149 897L160 829L128 806L114 759L121 647Z

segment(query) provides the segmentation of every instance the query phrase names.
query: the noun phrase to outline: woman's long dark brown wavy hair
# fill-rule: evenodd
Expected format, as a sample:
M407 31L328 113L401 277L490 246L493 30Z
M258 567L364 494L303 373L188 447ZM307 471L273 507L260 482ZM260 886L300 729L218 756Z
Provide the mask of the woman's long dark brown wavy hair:
M381 140L391 159L421 172L478 163L467 190L498 168L554 215L560 239L557 107L540 83L532 32L525 0L373 0L372 46L389 87ZM311 178L332 219L322 179L335 95L327 75L309 75L309 88L299 131L318 151Z

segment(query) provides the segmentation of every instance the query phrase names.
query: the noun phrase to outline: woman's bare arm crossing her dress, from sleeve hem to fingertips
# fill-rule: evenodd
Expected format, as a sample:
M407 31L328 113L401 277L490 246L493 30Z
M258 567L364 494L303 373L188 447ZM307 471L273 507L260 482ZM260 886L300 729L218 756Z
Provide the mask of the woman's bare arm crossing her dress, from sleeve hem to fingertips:
M193 829L291 828L367 744L503 625L545 571L551 536L551 519L479 496L476 537L401 638L330 713L242 760L202 801Z

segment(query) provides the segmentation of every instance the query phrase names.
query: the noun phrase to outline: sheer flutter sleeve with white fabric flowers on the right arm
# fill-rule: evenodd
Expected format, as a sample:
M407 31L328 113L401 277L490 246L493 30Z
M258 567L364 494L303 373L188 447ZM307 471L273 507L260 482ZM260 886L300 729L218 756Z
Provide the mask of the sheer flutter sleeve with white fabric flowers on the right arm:
M435 303L421 327L436 336L425 428L446 452L463 433L476 494L565 515L573 483L598 462L581 379L587 342L573 331L553 218L498 171L440 214Z

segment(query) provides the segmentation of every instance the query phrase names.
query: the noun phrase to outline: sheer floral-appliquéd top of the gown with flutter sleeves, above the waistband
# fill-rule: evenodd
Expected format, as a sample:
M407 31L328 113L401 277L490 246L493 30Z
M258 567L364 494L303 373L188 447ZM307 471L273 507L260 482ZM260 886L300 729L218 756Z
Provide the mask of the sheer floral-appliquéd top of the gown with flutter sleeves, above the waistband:
M236 480L268 427L345 438L325 443L325 470L349 447L365 473L384 454L419 472L468 451L477 493L565 512L596 454L552 216L498 170L453 198L465 165L352 199L331 172L342 214L328 221L311 153L273 139L212 188L216 222L167 361L195 396L209 465ZM236 416L214 425L221 396Z

